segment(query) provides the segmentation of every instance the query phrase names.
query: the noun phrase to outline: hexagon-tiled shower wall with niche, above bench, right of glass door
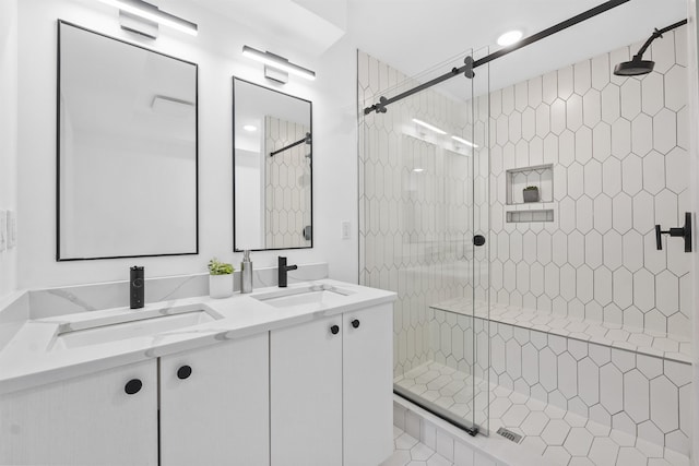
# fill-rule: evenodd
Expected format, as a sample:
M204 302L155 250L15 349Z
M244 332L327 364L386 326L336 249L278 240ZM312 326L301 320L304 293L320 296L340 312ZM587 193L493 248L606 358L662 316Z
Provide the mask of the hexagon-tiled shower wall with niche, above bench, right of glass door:
M657 251L654 232L691 210L686 26L653 43L652 73L615 76L638 48L490 93L493 301L688 334L689 254L675 238ZM507 205L506 170L542 164L555 220L506 223L523 207Z

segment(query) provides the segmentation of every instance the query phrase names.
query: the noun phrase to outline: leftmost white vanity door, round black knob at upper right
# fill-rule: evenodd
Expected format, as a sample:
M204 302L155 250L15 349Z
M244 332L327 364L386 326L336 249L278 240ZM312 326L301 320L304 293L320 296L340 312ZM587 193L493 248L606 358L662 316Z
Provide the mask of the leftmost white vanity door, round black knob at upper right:
M157 465L156 361L2 395L0 464Z

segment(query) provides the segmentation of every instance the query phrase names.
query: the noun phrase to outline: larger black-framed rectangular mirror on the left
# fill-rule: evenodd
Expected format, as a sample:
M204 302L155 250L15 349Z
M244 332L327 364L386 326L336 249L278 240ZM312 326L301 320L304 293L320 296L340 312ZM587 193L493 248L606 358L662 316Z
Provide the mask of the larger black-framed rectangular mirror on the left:
M58 261L198 253L197 79L59 21Z

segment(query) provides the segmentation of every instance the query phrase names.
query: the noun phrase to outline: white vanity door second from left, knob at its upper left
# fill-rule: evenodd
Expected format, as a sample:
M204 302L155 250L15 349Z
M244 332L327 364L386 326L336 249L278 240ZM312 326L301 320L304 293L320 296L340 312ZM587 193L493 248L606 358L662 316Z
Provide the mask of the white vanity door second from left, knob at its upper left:
M269 465L269 408L266 332L162 357L162 466Z

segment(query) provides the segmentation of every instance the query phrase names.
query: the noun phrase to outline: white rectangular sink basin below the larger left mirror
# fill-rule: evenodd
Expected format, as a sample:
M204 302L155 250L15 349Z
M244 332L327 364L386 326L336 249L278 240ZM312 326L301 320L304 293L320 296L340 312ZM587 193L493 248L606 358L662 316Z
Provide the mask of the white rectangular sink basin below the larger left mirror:
M205 306L162 311L131 311L123 315L81 320L63 324L49 350L71 349L139 336L156 335L192 325L213 322L223 316Z

